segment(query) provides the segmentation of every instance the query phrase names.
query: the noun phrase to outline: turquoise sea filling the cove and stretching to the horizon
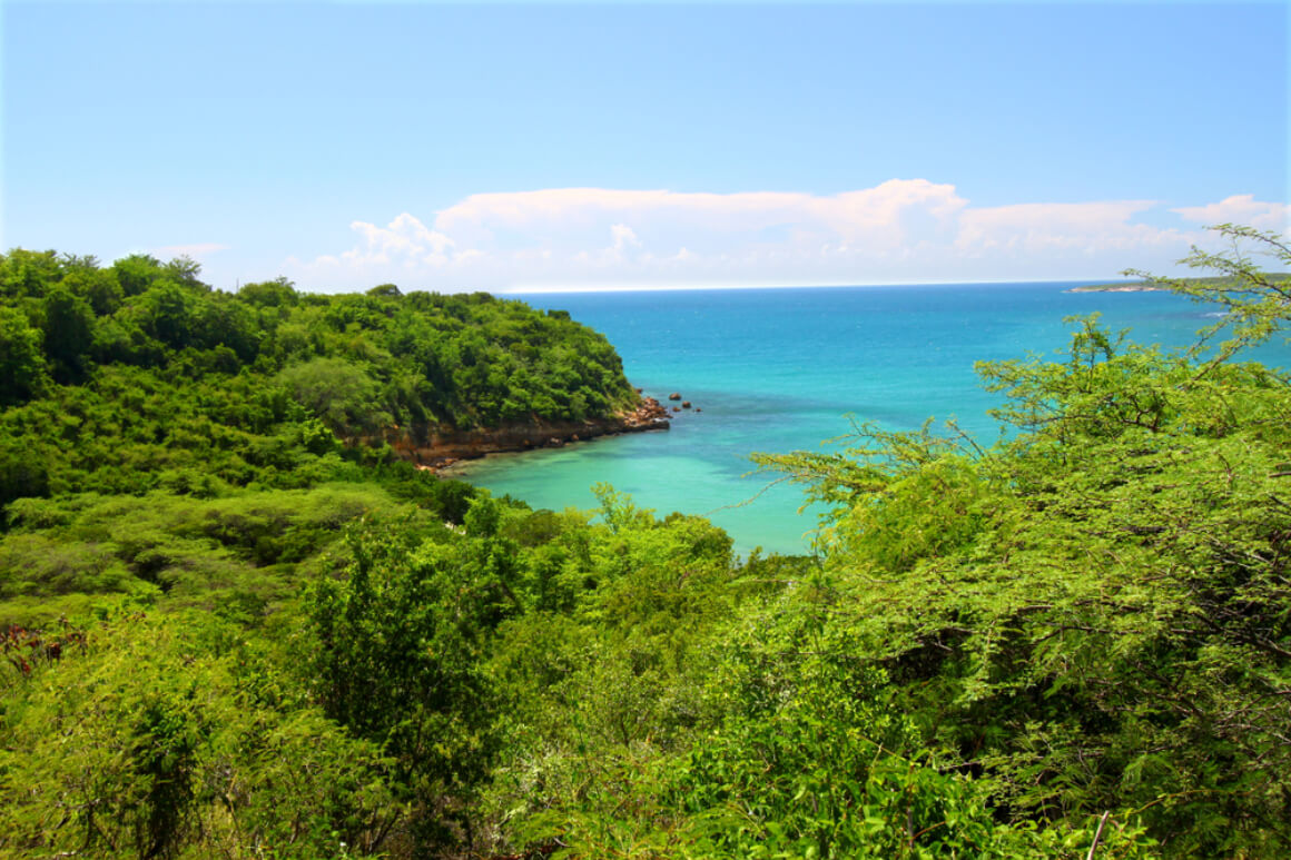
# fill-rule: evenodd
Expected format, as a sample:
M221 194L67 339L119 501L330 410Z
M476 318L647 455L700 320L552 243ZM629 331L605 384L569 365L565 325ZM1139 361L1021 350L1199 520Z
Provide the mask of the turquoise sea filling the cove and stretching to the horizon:
M973 362L1055 355L1062 318L1101 312L1141 343L1184 346L1214 310L1170 293L1070 293L1075 283L723 289L519 296L563 309L603 332L627 378L666 403L680 393L702 412L666 433L497 455L460 473L534 507L596 506L608 482L657 514L709 517L736 550L802 553L815 527L802 491L750 475L750 452L818 451L849 431L848 416L891 430L955 417L979 440L998 426ZM1208 316L1208 314L1211 316ZM1259 355L1291 365L1285 345ZM828 447L825 447L828 449Z

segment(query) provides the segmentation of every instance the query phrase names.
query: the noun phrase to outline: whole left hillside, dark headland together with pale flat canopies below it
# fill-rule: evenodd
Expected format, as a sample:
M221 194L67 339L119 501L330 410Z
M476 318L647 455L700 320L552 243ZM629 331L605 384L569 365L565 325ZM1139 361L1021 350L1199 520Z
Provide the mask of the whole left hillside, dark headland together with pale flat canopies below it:
M85 594L272 590L391 487L461 506L462 488L418 479L387 440L636 399L604 337L520 302L281 280L227 294L183 260L14 251L0 621L56 619Z

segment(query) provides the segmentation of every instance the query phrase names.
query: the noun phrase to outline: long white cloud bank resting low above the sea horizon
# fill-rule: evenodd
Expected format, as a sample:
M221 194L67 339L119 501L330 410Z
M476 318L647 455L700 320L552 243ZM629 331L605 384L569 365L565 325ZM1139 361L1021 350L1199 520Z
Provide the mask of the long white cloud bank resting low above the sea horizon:
M953 185L891 179L830 196L549 189L471 195L423 221L350 225L354 247L289 258L306 289L494 292L1114 278L1172 271L1202 227L1283 231L1291 208L1232 196L975 207Z

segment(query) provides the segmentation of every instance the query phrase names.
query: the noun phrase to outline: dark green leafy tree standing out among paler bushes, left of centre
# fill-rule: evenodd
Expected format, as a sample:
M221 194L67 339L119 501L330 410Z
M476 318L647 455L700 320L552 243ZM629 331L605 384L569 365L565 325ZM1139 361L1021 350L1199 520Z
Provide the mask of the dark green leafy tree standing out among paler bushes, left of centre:
M310 671L324 712L398 764L418 816L418 851L465 838L463 804L494 750L493 696L480 657L518 611L496 504L476 500L465 540L443 526L364 520L343 578L310 586Z

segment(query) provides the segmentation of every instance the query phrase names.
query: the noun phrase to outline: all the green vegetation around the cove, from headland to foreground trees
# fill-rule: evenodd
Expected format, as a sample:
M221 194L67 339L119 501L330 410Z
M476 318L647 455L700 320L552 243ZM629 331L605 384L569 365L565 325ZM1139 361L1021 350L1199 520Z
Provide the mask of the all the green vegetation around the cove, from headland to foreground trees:
M1077 319L979 365L993 444L755 455L828 513L747 558L395 455L634 405L567 315L9 252L0 855L1287 856L1291 248L1220 231L1153 282L1195 346Z

